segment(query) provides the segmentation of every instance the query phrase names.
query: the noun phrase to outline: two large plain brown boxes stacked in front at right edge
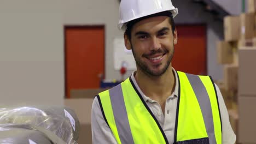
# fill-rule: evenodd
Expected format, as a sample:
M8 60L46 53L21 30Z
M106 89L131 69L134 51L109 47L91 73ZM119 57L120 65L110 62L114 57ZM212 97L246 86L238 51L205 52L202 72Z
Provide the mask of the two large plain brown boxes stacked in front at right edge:
M256 143L256 47L242 47L238 56L239 141Z

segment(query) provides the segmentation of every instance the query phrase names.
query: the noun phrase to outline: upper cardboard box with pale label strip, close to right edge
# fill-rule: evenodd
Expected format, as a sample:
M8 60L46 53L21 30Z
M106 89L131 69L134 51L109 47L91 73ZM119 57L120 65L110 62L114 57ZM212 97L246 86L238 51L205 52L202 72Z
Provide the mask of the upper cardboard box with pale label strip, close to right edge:
M240 39L252 39L254 36L254 23L255 23L254 13L248 13L248 14L243 13L240 15L240 19L241 19Z

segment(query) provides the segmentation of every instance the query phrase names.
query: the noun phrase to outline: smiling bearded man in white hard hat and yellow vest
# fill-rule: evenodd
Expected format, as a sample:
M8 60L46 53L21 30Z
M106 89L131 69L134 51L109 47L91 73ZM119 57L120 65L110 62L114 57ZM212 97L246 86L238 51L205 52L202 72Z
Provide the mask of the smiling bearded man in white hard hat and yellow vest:
M121 29L137 70L92 104L94 143L235 143L228 112L210 76L171 66L178 36L168 0L122 0Z

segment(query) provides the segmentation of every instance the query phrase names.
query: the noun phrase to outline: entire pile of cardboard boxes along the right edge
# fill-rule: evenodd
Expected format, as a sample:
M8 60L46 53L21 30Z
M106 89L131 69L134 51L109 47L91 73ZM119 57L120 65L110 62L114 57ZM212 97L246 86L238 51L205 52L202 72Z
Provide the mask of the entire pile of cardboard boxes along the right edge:
M217 85L237 142L256 143L256 0L248 0L248 13L224 18L224 35L217 44L224 79Z

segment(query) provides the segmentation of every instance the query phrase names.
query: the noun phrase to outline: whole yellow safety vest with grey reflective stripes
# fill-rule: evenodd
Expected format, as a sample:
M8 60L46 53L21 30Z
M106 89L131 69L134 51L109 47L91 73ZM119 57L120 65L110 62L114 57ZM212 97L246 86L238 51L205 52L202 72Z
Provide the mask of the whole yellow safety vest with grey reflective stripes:
M174 143L222 143L218 97L211 77L176 73L179 95ZM97 98L103 117L118 143L168 143L131 77L98 94Z

